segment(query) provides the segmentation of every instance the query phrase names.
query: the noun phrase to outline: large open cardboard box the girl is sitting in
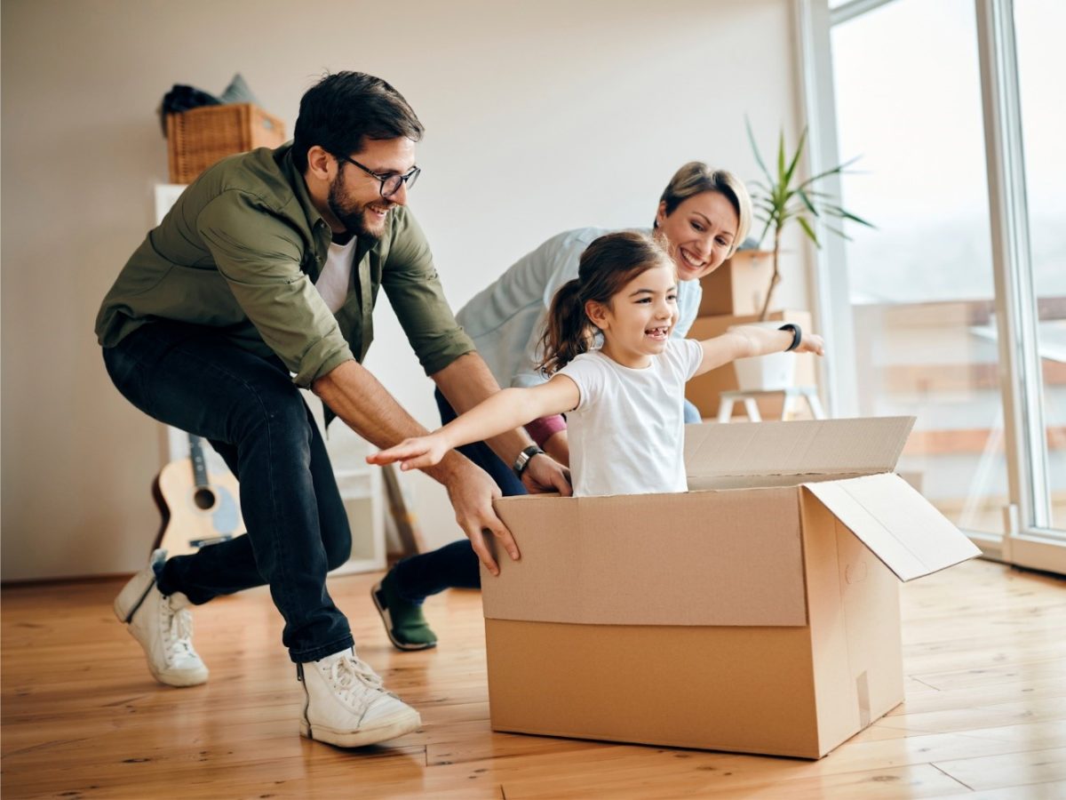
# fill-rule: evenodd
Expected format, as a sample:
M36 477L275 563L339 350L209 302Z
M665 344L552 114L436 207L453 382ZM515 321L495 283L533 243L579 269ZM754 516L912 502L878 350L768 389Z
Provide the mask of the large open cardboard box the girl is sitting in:
M914 419L689 426L685 494L497 500L492 729L818 758L903 701L899 582L979 555Z

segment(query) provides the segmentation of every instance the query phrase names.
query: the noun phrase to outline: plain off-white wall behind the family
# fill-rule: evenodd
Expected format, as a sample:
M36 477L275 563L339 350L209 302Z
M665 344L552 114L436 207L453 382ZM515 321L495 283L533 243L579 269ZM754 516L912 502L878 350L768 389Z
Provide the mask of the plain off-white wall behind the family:
M673 171L757 176L794 140L791 0L4 0L2 6L2 577L130 572L158 515L155 422L111 386L97 306L152 221L173 83L241 71L291 132L325 70L393 83L426 127L411 206L459 307L546 237L647 225ZM782 302L803 291L786 284ZM431 384L388 308L368 366L422 422ZM458 535L415 486L434 542Z

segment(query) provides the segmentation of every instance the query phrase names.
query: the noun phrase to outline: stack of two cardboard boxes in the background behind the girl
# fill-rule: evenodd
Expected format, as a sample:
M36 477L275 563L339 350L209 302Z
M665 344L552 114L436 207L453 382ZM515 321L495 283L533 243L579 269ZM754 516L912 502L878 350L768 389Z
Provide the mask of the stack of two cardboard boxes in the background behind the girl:
M710 339L724 334L730 325L757 321L770 286L771 274L773 274L771 254L760 250L748 250L737 253L714 272L705 275L700 281L704 298L699 304L699 316L689 332L690 338ZM794 322L804 331L810 331L808 311L776 310L771 311L766 319L781 323ZM813 355L805 353L796 356L795 383L797 386L814 385ZM721 393L736 388L737 374L733 366L728 364L689 381L685 397L699 409L700 416L705 419L714 419L718 413ZM780 418L782 396L760 397L758 403L763 419ZM734 414L742 413L743 406L738 403Z

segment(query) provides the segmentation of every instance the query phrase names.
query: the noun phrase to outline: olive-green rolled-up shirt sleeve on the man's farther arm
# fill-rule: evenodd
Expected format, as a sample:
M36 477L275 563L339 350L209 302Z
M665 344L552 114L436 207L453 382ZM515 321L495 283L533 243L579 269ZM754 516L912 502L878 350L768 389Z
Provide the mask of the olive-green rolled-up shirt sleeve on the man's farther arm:
M432 375L474 352L474 346L445 299L421 227L407 209L392 213L392 242L382 270L382 287L422 369Z

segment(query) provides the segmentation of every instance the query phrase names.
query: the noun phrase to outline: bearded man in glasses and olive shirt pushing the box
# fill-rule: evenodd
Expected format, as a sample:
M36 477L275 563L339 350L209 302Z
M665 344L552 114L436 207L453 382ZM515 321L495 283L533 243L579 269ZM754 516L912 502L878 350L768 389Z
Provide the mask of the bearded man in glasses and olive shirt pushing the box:
M422 367L457 410L498 385L449 309L430 249L407 210L422 125L385 81L328 76L300 105L276 150L227 158L178 198L133 253L96 322L108 372L135 406L207 438L240 479L247 533L166 559L152 554L115 599L171 686L207 681L190 606L263 583L305 692L303 735L341 747L394 738L418 713L358 659L326 572L351 531L314 420L309 387L357 433L388 447L425 430L362 366L385 289ZM565 470L522 431L491 445L521 462L532 490L569 493ZM536 454L536 457L534 457ZM495 574L488 531L518 550L496 516L492 480L458 453L426 470Z

